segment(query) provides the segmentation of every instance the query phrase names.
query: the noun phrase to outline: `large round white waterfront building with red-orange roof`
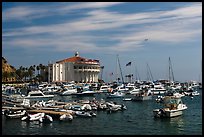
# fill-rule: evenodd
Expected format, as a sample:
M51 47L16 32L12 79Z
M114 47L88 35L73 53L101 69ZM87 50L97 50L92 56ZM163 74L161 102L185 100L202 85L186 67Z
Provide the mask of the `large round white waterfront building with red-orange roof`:
M48 64L48 82L98 82L100 63L96 59L75 56Z

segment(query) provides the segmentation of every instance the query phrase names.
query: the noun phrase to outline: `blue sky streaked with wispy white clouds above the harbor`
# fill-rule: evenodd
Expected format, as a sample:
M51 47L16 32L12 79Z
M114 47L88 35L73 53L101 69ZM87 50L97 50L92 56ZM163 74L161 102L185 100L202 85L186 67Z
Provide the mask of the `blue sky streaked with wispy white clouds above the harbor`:
M174 80L202 81L202 2L2 3L2 56L15 68L76 51L106 82L168 79L169 58Z

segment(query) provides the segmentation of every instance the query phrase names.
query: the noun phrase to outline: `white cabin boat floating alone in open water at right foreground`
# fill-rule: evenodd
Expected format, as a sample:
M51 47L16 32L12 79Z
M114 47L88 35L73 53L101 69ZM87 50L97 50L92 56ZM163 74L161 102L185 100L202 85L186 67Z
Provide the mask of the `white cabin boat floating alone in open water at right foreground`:
M186 104L183 104L181 97L165 96L164 108L154 109L154 117L176 117L183 114L183 110L187 109Z

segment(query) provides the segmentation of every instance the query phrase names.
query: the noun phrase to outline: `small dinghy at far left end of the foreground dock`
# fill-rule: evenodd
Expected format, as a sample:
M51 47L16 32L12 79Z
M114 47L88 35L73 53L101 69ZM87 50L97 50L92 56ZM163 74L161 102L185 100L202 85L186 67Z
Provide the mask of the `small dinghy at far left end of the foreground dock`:
M26 115L26 110L18 111L5 110L4 114L7 118L21 118Z

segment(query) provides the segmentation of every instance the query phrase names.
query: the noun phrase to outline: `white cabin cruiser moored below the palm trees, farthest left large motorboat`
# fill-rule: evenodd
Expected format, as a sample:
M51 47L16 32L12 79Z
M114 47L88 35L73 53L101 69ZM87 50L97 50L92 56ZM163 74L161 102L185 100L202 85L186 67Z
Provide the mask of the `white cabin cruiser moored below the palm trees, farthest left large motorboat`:
M53 98L54 95L45 95L40 90L33 90L28 93L28 96L25 96L25 99L38 99L38 98Z

